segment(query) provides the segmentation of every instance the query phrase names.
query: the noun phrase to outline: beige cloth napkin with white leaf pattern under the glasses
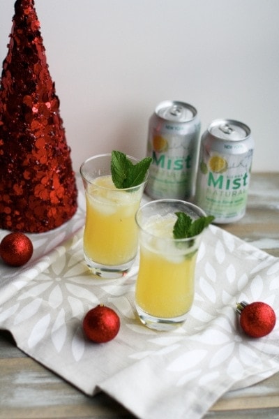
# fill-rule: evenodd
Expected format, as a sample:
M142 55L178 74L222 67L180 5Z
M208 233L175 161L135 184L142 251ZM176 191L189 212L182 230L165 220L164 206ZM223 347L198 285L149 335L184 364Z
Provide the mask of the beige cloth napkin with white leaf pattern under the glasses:
M89 395L107 392L142 419L202 418L227 390L279 371L278 323L267 337L252 339L235 311L236 302L259 300L278 316L278 258L210 226L186 324L156 332L135 313L138 260L123 279L88 272L83 205L66 226L32 236L36 251L25 267L0 265L0 327L22 351ZM99 303L121 318L119 334L107 344L93 344L82 332L84 314Z

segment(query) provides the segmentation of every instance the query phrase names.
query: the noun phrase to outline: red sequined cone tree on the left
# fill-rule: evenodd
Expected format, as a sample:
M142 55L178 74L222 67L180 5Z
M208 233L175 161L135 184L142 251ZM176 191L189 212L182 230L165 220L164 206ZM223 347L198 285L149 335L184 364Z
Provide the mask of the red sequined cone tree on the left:
M75 174L33 0L17 0L0 87L0 228L43 233L77 210Z

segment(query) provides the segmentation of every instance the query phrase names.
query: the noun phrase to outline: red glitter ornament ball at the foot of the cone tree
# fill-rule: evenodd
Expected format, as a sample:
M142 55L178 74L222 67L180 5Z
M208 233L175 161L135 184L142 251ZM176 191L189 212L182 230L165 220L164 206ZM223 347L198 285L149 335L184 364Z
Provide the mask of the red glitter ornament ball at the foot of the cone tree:
M33 254L33 244L23 233L10 233L0 243L0 256L10 266L22 266Z

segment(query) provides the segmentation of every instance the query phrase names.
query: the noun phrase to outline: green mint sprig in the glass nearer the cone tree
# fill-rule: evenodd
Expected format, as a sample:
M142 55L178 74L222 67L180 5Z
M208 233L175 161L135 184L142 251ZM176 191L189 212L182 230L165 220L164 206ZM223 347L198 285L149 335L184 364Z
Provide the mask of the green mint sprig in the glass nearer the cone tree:
M114 150L111 162L112 182L117 189L132 188L142 184L151 161L151 157L145 157L139 163L133 164L126 154Z

